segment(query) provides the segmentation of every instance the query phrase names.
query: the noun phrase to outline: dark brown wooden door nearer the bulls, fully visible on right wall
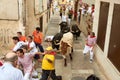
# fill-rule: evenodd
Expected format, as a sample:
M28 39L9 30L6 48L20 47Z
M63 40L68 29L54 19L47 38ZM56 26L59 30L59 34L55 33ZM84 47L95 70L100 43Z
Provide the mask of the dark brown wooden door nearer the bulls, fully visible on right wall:
M104 51L105 35L107 29L108 12L109 12L109 3L101 2L97 44L103 51Z

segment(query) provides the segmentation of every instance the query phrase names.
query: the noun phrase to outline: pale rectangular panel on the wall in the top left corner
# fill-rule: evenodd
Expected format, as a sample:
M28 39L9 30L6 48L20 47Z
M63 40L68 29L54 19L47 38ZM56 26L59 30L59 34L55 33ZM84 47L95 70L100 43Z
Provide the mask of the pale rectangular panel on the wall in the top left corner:
M0 0L0 19L18 20L18 0Z

